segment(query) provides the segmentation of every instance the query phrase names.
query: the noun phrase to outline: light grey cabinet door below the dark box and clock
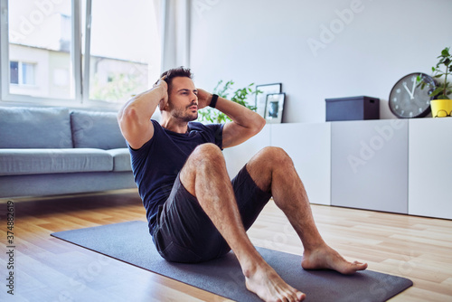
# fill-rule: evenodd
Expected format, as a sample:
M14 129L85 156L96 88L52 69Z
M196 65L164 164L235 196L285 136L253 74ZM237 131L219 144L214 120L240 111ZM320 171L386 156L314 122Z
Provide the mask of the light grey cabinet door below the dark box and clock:
M331 124L331 203L408 212L408 121Z

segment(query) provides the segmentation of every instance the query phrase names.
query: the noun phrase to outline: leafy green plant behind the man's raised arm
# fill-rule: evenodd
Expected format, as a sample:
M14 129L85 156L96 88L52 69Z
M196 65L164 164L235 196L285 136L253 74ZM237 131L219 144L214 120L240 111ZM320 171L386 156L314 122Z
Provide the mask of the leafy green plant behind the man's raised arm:
M218 94L221 98L229 99L229 94L233 92L233 95L231 97L232 101L235 101L236 103L239 103L240 105L245 106L248 109L251 109L253 111L256 111L256 107L249 105L247 102L247 99L249 96L256 95L262 91L253 90L252 87L254 83L251 83L250 85L238 89L238 90L232 90L232 85L234 85L234 82L232 80L228 80L226 83L222 84L223 80L220 80L213 90L213 93ZM221 85L222 84L222 85ZM224 113L222 113L219 110L215 110L209 107L206 107L205 109L199 110L199 117L198 120L208 121L211 123L224 123L228 120L231 120L231 118L228 118Z

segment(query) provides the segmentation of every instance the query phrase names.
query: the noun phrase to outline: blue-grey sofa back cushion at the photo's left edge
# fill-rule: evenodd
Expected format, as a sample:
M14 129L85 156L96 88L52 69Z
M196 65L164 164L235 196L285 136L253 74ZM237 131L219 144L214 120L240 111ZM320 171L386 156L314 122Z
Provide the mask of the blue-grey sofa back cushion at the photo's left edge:
M0 148L71 148L69 110L0 108Z

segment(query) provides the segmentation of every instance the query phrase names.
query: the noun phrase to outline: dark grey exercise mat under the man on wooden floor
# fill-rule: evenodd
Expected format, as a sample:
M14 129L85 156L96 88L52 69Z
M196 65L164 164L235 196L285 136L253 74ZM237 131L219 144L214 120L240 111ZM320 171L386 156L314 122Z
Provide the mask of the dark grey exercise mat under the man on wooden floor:
M122 222L52 236L89 250L174 278L236 301L260 301L245 288L239 262L230 252L219 260L198 264L171 263L155 250L146 222ZM304 270L301 257L258 248L278 274L306 293L305 301L385 301L413 285L407 278L363 270L344 276L330 270Z

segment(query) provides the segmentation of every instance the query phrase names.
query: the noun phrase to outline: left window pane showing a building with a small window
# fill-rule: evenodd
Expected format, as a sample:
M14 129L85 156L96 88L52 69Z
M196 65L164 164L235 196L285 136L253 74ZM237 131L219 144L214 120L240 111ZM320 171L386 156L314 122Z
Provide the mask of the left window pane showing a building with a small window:
M9 0L8 93L38 98L74 99L74 78L54 89L52 75L71 69L71 0ZM29 62L33 60L33 63Z

